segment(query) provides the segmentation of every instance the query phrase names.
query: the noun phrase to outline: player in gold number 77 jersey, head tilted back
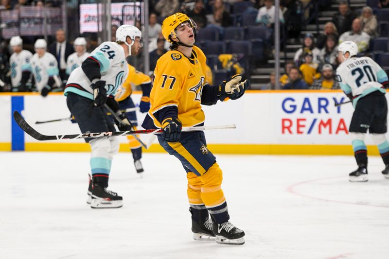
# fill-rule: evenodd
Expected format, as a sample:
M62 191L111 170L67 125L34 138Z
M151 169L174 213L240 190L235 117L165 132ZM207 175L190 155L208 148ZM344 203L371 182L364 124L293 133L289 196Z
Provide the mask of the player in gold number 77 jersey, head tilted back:
M235 75L216 86L206 84L206 57L194 45L195 28L195 22L181 13L163 21L162 35L171 43L171 51L157 62L151 108L142 126L163 129L158 136L160 145L176 156L187 172L194 239L243 244L245 232L229 222L221 189L222 171L207 148L204 132L181 134L181 128L202 126L205 115L201 104L236 100L244 94L249 82L242 82L242 76Z

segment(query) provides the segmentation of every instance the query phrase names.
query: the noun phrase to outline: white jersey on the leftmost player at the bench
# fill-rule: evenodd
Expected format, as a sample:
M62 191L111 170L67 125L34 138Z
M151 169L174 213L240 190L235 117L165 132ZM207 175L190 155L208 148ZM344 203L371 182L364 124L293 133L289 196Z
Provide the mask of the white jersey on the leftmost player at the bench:
M33 54L29 51L22 50L19 53L14 52L10 59L9 65L11 69L11 84L16 87L20 83L21 74L23 71L31 72L31 58Z

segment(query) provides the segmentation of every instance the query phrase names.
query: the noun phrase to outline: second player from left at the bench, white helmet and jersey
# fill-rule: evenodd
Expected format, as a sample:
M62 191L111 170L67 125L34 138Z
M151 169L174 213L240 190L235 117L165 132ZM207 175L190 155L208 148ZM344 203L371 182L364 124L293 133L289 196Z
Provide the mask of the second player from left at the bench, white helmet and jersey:
M31 67L35 79L35 87L45 97L54 88L62 86L59 79L57 59L53 54L46 52L47 43L44 39L37 39L34 44L35 54L31 59Z

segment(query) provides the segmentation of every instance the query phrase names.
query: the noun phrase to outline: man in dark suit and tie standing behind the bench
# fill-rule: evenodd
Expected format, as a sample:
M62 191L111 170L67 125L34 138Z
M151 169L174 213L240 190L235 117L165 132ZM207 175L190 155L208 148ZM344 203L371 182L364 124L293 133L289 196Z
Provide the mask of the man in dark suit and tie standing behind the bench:
M74 48L66 41L65 31L62 29L56 31L55 39L56 41L49 46L49 52L57 58L59 77L62 80L67 80L66 63L68 62L69 55L74 53Z

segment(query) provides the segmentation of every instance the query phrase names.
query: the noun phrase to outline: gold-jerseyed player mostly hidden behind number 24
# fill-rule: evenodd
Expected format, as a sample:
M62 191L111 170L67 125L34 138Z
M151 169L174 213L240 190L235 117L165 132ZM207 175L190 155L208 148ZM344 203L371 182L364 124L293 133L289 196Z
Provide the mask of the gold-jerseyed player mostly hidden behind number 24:
M139 52L140 44L134 44L131 46L131 54L136 55ZM129 59L127 58L127 67L128 67L128 76L125 79L122 86L119 87L115 100L119 102L120 108L122 110L128 108L135 108L135 104L131 99L132 87L141 86L142 89L142 98L139 104L139 109L142 113L148 112L150 108L150 89L151 89L151 78L148 75L143 74L140 71L137 71L133 66L129 64ZM138 120L135 111L126 112L128 120L131 122L134 130L137 130ZM142 157L142 147L141 144L134 138L134 136L127 136L132 157L134 159L134 165L137 173L143 173L143 166L141 163Z

